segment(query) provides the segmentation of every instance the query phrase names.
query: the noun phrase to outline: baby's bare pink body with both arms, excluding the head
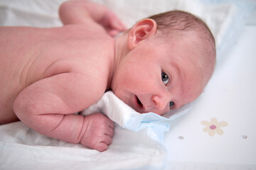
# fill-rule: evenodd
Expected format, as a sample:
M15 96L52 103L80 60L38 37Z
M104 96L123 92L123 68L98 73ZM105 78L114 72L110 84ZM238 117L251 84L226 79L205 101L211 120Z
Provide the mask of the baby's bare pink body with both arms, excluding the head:
M76 20L68 14L67 4L60 7L62 28L0 28L0 123L19 119L44 135L104 151L112 142L112 120L102 114L72 113L110 89L114 60L110 35L124 26L103 6L87 1L68 6L80 4L82 15ZM87 10L94 6L101 13ZM105 18L106 29L96 22L105 13L112 15Z

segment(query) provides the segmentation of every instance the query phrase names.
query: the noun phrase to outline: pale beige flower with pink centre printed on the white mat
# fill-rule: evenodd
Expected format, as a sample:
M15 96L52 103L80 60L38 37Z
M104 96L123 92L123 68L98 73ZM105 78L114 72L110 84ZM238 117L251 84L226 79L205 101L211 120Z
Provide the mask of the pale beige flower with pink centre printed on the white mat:
M208 121L201 121L202 125L205 125L206 128L203 128L204 132L208 132L209 136L214 136L215 133L218 133L218 135L223 135L222 128L227 126L228 123L225 121L218 122L216 118L211 118L210 122Z

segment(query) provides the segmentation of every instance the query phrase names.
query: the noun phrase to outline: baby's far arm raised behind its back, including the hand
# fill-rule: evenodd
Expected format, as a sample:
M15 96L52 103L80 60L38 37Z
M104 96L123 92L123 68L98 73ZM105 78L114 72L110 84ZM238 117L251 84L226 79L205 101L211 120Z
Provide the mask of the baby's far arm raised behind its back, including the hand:
M110 9L91 1L67 1L60 6L59 14L64 25L97 23L112 36L126 29Z

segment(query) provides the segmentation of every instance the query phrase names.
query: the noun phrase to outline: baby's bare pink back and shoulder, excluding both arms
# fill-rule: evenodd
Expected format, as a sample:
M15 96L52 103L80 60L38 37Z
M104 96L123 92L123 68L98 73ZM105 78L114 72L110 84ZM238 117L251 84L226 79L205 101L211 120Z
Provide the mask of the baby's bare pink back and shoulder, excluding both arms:
M18 120L13 104L23 89L57 74L82 74L87 86L80 90L97 89L91 99L85 96L95 102L107 88L110 57L104 54L112 46L112 38L84 26L0 28L0 123ZM63 79L63 86L69 81Z

